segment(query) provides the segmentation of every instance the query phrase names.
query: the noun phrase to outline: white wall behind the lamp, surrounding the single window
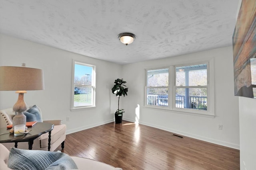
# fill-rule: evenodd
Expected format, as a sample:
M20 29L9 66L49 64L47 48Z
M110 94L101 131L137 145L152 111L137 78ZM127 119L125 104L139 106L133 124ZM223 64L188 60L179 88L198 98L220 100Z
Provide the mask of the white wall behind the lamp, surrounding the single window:
M70 111L72 98L72 59L96 65L96 107ZM67 133L114 121L117 98L111 93L121 66L75 53L0 34L0 66L21 66L44 70L45 90L27 91L27 104L37 104L43 119L63 119ZM14 91L0 92L0 109L9 108L18 99ZM70 116L70 121L66 117Z

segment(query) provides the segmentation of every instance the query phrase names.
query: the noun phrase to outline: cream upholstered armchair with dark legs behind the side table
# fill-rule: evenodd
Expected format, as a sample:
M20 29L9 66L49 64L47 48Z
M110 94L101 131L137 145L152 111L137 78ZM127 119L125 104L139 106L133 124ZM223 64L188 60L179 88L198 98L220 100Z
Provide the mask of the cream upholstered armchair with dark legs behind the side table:
M29 107L30 108L30 107ZM28 108L28 109L29 109ZM42 111L40 107L38 107L40 112L40 116L42 117ZM12 118L15 116L15 112L12 108L0 110L0 128L6 128L7 125L12 125ZM54 129L51 132L51 145L50 151L56 150L58 146L61 145L62 149L64 149L64 141L66 139L66 125L62 124L61 119L55 120L43 120L43 122L52 123L54 125ZM40 137L34 140L33 150L48 150L48 133L41 135ZM14 143L3 143L3 145L10 150L11 147L14 147ZM28 149L27 142L19 142L19 149Z

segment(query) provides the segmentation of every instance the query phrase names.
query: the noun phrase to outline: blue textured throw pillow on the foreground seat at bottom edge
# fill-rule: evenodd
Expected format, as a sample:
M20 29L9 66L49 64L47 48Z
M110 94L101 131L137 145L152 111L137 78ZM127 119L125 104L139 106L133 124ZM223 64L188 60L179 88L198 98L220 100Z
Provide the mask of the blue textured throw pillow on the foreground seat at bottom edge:
M68 154L44 150L11 148L8 168L15 170L70 170L78 169Z

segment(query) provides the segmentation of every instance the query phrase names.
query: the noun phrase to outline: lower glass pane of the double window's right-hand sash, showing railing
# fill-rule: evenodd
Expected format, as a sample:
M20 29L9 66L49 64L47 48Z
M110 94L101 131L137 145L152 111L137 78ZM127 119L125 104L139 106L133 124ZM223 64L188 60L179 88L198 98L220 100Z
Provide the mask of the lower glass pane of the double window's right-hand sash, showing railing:
M176 107L207 110L207 88L176 88Z

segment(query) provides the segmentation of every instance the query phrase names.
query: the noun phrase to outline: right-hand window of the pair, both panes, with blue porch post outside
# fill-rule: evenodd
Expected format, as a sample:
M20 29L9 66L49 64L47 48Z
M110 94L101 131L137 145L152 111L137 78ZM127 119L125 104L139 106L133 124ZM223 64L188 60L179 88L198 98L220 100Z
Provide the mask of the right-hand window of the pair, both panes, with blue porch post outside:
M207 64L174 68L175 107L207 110Z

